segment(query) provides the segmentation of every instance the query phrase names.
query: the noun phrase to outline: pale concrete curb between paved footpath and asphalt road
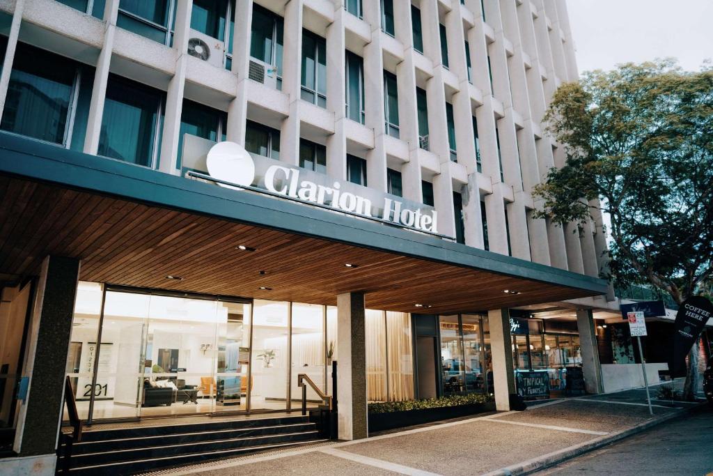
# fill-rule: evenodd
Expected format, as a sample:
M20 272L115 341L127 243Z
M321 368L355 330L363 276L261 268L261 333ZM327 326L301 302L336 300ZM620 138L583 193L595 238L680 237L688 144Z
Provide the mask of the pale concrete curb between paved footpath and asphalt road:
M613 432L610 435L605 435L602 437L595 438L594 440L589 440L578 445L569 446L563 448L562 450L553 451L547 453L546 455L541 455L538 457L531 458L523 462L518 462L515 465L510 465L503 467L499 470L494 470L487 472L482 476L513 476L513 475L527 475L531 472L538 470L543 470L546 467L554 466L565 460L569 460L575 456L583 455L587 452L596 450L605 445L609 445L612 442L623 440L624 438L636 435L644 430L648 430L651 427L655 427L660 423L667 422L668 420L673 420L676 417L690 413L693 410L697 410L700 407L707 405L706 402L700 403L699 405L691 405L690 407L683 408L677 412L671 412L668 415L664 415L655 420L650 420L647 422L639 423L633 427L627 428L626 430L620 430Z

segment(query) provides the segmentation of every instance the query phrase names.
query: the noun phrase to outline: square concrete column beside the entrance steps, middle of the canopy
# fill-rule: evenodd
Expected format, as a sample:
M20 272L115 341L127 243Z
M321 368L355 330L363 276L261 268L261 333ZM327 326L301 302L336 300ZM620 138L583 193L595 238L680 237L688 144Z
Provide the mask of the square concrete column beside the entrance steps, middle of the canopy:
M339 440L369 436L366 418L364 293L337 296L337 421Z

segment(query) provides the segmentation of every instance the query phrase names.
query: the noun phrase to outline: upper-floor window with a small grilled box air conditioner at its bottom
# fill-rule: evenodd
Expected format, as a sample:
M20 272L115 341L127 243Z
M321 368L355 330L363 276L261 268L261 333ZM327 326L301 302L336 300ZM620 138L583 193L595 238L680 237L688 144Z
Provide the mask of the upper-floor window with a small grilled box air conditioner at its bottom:
M252 7L252 26L250 27L250 56L253 60L260 61L264 66L271 66L274 71L255 71L257 76L250 74L251 79L258 82L267 83L260 73L266 73L267 77L276 78L275 88L282 89L282 17L277 16L262 8L259 5Z

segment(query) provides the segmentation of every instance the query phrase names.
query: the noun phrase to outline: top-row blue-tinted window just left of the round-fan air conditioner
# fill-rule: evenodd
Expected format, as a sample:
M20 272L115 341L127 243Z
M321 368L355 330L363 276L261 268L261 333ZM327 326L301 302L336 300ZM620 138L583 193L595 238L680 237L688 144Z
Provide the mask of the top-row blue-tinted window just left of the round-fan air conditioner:
M175 14L175 0L120 0L116 26L170 45Z

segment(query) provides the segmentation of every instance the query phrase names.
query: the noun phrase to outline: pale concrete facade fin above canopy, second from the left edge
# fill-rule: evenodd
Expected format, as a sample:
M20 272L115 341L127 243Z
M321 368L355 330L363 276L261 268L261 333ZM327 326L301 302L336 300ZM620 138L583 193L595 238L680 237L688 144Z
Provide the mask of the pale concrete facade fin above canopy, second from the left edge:
M108 0L104 6L104 43L96 61L94 83L89 103L87 130L84 135L84 153L96 155L101 138L101 121L104 116L106 101L106 85L109 81L109 66L114 47L114 32L116 31L116 16L119 11L119 0Z

